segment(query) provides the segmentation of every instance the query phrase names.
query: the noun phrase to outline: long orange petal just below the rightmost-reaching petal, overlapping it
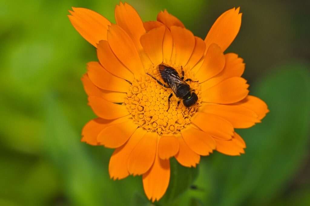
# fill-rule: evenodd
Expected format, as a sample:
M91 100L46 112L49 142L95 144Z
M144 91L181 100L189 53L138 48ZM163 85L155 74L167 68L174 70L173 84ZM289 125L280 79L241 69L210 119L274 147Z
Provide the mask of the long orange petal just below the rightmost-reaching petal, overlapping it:
M239 105L207 105L199 107L199 111L224 118L234 128L248 128L260 122L255 112Z

